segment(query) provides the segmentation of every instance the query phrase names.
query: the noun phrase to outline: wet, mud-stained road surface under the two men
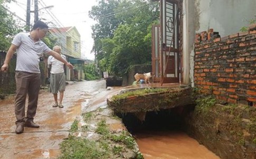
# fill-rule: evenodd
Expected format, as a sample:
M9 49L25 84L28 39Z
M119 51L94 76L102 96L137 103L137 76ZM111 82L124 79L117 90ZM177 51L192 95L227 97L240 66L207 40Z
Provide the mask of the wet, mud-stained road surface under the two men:
M42 90L34 119L40 128L25 128L22 134L15 134L14 97L0 101L0 158L56 158L60 153L59 143L68 136L75 117L82 110L96 108L95 105L106 107L106 98L116 93L116 90L106 90L105 87L104 80L68 85L64 93L63 109L52 108L52 94Z

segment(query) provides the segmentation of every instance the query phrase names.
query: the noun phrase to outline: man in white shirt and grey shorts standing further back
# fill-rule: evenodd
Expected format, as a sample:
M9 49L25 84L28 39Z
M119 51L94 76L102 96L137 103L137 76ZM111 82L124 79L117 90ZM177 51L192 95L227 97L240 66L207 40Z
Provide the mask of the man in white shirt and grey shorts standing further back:
M61 55L61 47L54 46L53 51L58 52L63 59L66 59L64 55ZM65 91L65 73L64 63L55 59L53 56L48 58L48 69L50 70L50 92L53 93L55 104L52 107L63 108L62 100ZM60 99L58 103L58 91L60 92Z

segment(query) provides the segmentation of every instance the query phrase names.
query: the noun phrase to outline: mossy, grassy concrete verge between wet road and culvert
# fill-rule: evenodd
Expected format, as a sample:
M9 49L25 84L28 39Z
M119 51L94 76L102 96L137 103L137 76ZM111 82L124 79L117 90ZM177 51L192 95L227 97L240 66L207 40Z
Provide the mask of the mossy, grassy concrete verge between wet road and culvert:
M87 143L94 146L92 149L88 148L88 152L85 151ZM85 144L81 151L79 144ZM72 146L74 146L75 151L73 151ZM127 131L121 119L113 115L113 111L109 108L99 108L96 111L82 113L81 116L78 116L71 125L69 137L60 144L60 147L60 158L65 158L67 155L74 157L75 154L72 156L71 153L77 151L90 155L92 150L97 151L98 154L103 154L100 156L102 159L143 158L134 137ZM89 158L89 156L87 157Z

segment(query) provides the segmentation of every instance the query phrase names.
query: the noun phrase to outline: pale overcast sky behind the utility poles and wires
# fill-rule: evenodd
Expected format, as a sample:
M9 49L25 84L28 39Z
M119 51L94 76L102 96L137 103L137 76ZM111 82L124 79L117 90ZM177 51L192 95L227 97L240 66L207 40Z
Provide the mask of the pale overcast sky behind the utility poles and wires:
M8 7L11 12L25 20L26 4L27 0L17 0L17 3L11 3ZM88 12L94 5L97 5L97 0L39 0L39 19L43 22L59 24L60 27L75 26L81 35L81 58L92 60L94 54L91 53L93 46L91 26L95 22L89 18ZM46 9L45 6L53 7ZM31 10L33 9L34 0L31 0ZM33 20L34 14L31 13L31 24Z

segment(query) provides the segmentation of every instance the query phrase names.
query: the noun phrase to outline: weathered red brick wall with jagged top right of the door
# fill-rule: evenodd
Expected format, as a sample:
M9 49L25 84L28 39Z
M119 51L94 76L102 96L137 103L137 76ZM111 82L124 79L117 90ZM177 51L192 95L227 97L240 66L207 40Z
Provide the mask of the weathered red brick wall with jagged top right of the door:
M195 86L230 103L256 106L256 24L220 37L213 29L196 34Z

